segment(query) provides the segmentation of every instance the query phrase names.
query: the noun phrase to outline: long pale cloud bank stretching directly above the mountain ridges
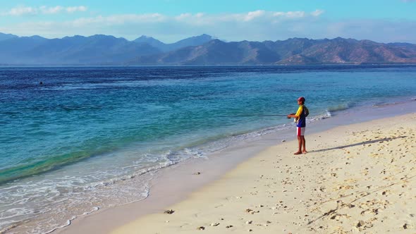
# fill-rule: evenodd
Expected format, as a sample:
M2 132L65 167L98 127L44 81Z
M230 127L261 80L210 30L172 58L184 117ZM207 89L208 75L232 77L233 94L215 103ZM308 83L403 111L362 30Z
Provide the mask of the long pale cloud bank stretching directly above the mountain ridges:
M176 42L178 39L207 33L227 41L350 37L376 42L416 43L416 20L329 20L322 16L322 10L183 13L177 16L160 13L125 14L78 18L65 22L37 22L31 19L30 23L0 23L0 32L49 38L104 34L135 39L140 35L149 35L163 42Z

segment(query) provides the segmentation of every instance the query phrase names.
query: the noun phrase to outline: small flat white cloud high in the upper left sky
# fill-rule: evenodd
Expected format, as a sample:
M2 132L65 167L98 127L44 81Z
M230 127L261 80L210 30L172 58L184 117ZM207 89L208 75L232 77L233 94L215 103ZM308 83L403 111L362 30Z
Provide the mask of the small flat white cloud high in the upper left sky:
M1 13L2 16L27 16L27 15L39 15L39 14L56 14L66 11L68 13L74 13L76 11L87 11L86 6L17 6L11 8L10 11L6 13Z

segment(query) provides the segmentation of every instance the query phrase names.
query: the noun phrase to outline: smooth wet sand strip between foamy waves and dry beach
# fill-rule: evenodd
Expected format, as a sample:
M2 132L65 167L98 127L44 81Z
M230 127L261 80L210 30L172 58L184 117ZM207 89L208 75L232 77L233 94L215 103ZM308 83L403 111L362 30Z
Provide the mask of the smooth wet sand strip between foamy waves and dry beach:
M415 106L415 102L410 101L407 104L397 104L393 106L393 108L391 108L392 106L383 106L382 108L377 107L379 112L372 111L374 112L375 117L385 118L386 116L396 116L398 113L403 114L403 111L405 113L405 107L408 107L409 105ZM357 113L350 114L352 114L352 116L357 116ZM374 119L374 116L371 116L371 118ZM341 118L350 117L351 116L348 116L347 114ZM337 127L337 118L339 117L318 121L319 123L314 124L315 126L308 129L307 135L310 133L320 133ZM350 118L349 121L345 122L345 125L354 122L360 123L362 121L368 121L368 119ZM152 183L152 189L147 199L120 207L103 209L88 216L81 216L75 219L70 226L56 230L54 233L85 233L87 230L91 232L94 230L91 228L94 228L94 224L96 223L102 224L100 233L105 233L109 230L123 226L126 223L130 223L137 217L146 217L149 216L149 214L160 213L160 211L163 211L166 207L181 202L184 199L188 199L188 196L192 192L195 192L195 190L203 189L205 186L215 183L215 181L219 180L225 173L233 170L238 164L256 157L254 155L265 148L280 143L281 140L294 139L295 137L293 137L292 132L292 130L288 130L286 133L280 133L280 138L276 138L276 135L273 134L266 135L262 137L263 139L260 142L250 142L249 145L245 145L245 148L243 150L240 149L240 152L233 152L235 149L228 149L226 152L221 152L220 155L210 156L208 160L195 159L166 168L159 173L159 177ZM287 142L283 144L287 144ZM293 147L295 147L295 143L292 142L292 144ZM238 153L243 155L236 156L235 154ZM213 168L214 170L210 170ZM200 172L201 175L195 175L197 172ZM186 183L178 183L178 181L185 181ZM166 197L166 195L168 195L168 197Z

